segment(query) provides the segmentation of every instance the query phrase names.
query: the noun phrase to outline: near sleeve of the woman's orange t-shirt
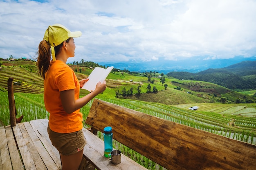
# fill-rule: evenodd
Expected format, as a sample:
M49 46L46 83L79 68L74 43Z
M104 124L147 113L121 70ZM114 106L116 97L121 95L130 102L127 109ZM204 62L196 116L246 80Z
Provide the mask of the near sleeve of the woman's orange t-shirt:
M63 68L56 73L56 85L59 92L75 89L74 76L70 68Z

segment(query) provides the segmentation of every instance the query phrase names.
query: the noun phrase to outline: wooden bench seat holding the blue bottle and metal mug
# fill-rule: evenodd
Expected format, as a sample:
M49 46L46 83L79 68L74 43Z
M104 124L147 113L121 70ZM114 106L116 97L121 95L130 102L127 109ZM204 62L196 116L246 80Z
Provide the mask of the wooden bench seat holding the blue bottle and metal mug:
M83 134L86 139L86 145L83 150L84 157L97 170L146 170L132 159L121 155L121 163L115 165L104 157L104 142L93 133L83 128Z

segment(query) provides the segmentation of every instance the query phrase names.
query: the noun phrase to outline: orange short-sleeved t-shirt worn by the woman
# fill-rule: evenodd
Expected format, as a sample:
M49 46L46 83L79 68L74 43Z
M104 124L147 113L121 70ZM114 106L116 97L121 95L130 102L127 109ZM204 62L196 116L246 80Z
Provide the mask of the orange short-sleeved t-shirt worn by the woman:
M49 127L57 133L71 133L83 128L80 109L66 113L61 103L60 92L74 89L74 100L79 99L80 84L74 71L64 62L51 61L44 80L45 108L50 113Z

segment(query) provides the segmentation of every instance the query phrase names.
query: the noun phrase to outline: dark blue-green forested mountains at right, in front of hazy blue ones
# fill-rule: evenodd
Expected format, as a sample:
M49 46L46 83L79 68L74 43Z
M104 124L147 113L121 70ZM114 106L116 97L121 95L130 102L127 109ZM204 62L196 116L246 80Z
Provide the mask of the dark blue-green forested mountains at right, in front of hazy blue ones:
M215 83L229 89L256 89L256 61L242 61L225 68L207 69L198 73L169 72L168 76Z

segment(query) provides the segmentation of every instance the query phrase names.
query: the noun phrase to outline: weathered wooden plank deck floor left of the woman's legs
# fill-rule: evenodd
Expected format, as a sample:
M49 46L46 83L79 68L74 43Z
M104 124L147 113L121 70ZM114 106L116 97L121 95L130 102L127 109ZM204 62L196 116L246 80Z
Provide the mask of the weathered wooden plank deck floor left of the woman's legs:
M0 127L0 170L59 170L61 159L45 119Z

